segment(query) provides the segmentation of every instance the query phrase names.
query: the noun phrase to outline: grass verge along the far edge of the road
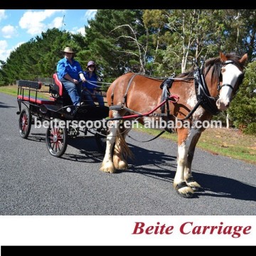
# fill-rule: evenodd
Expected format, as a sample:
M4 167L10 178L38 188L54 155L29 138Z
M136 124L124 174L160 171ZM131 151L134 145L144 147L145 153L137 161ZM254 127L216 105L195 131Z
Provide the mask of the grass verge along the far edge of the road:
M42 90L48 91L48 87L42 86ZM16 97L17 86L2 86L0 92ZM38 97L48 99L50 94L41 92ZM147 132L153 136L159 134L159 131L154 129L137 128L137 131ZM161 135L161 138L177 142L177 134L165 132ZM202 133L197 147L209 151L211 154L228 156L233 159L247 161L250 164L256 164L256 136L242 134L238 129L208 128Z

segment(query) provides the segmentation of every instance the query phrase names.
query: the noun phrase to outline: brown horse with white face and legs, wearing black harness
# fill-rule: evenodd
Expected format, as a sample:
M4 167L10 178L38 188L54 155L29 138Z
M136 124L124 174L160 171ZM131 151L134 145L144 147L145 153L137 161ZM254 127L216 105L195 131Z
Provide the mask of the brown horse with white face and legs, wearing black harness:
M227 110L244 76L247 53L235 53L206 60L199 68L193 67L176 78L166 80L151 78L139 73L125 73L107 90L110 107L105 156L100 171L114 173L128 169L127 158L132 151L125 137L132 125L124 127L124 120L146 122L179 121L179 127L164 127L167 132L177 132L177 169L173 186L179 196L192 198L203 187L192 176L191 164L203 126L198 122L212 119L214 114ZM144 114L146 113L146 114ZM154 120L153 120L154 119ZM153 121L150 121L153 120Z

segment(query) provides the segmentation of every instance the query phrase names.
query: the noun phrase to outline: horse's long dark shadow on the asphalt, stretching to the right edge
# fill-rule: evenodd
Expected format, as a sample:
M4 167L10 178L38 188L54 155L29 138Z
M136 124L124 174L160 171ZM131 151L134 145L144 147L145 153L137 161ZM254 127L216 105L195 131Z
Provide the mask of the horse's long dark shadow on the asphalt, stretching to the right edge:
M130 172L173 182L176 174L176 156L169 156L158 151L149 151L138 146L129 145L136 159L129 166ZM157 167L157 168L156 168ZM207 174L203 170L193 170L193 177L203 186L203 191L195 196L214 196L256 201L256 186L243 183L233 178ZM119 171L121 172L121 171ZM213 170L214 173L214 170Z

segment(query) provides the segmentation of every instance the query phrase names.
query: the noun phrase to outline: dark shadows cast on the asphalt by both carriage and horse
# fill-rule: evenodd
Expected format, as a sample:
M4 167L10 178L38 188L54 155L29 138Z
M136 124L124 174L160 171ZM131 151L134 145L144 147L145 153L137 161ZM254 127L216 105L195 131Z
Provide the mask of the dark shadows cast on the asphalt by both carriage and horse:
M45 134L31 134L28 139L36 142L45 142ZM157 178L163 181L173 183L176 173L176 156L170 156L159 151L144 149L139 146L128 144L132 150L135 159L129 159L129 169L121 172L133 172ZM82 161L86 163L100 163L103 160L104 153L97 148L93 136L78 137L69 139L68 146L73 146L80 151L80 154L63 154L62 158L70 161ZM210 165L209 165L210 167ZM196 192L196 196L213 196L223 198L234 198L244 201L256 201L256 186L243 183L233 178L216 176L208 174L204 170L193 171L193 177L203 186L204 191Z

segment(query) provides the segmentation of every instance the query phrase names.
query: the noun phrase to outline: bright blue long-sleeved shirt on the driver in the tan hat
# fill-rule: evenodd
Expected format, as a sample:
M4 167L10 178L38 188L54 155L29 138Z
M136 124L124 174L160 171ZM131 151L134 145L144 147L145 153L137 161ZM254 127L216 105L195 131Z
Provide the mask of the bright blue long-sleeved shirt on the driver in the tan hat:
M57 64L58 78L63 78L66 74L70 75L71 78L80 80L79 74L82 73L82 68L77 60L73 59L71 65L67 58L62 58Z

